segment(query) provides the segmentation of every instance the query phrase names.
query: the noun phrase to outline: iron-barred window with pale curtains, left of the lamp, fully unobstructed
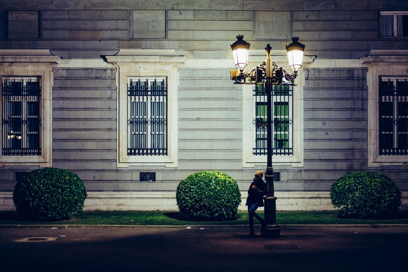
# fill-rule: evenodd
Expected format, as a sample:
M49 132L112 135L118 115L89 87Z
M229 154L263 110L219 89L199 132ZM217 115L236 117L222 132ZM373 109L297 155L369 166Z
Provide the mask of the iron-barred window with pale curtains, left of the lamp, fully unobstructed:
M128 78L128 155L167 155L166 78Z

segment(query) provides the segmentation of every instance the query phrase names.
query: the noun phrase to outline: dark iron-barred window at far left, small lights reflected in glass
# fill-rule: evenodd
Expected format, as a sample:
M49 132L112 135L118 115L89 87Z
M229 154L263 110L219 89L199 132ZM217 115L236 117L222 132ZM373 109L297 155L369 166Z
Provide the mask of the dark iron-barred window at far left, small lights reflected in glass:
M41 155L40 77L3 77L2 155Z

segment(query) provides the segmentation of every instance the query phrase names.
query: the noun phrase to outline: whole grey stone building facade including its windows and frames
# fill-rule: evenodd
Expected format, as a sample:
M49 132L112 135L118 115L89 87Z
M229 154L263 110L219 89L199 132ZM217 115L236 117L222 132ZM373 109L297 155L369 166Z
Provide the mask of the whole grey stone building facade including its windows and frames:
M1 210L38 167L77 173L86 210L177 210L200 170L245 198L266 168L265 106L230 80L237 35L249 69L270 44L289 70L291 37L306 45L297 85L274 98L277 209L333 209L331 184L361 170L392 178L407 209L405 1L0 0L0 21Z

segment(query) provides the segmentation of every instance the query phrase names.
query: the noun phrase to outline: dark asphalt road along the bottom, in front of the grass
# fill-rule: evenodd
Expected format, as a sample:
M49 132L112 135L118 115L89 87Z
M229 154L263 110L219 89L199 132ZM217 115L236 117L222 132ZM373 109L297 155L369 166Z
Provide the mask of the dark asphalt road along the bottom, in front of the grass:
M232 227L3 228L0 268L4 272L408 270L408 227L282 227L281 237L275 239L248 238L247 232Z

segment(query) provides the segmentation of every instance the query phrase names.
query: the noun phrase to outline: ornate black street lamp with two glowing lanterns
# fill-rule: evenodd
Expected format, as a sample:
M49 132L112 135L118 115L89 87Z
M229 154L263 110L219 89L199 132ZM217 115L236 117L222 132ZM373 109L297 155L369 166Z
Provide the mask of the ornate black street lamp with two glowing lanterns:
M269 44L265 48L266 60L248 73L244 71L244 68L248 64L250 44L243 40L243 35L236 37L237 40L231 44L231 49L235 66L238 69L231 71L231 80L234 80L236 84L263 84L267 94L267 168L265 173L267 195L264 208L265 225L261 229L261 235L264 237L279 237L281 229L279 225L276 224L277 198L275 197L272 168L272 86L294 85L294 80L298 75L298 69L302 67L305 45L298 41L298 37L294 37L292 38L292 43L286 46L289 67L292 68L292 73L287 72L272 61L272 47Z

